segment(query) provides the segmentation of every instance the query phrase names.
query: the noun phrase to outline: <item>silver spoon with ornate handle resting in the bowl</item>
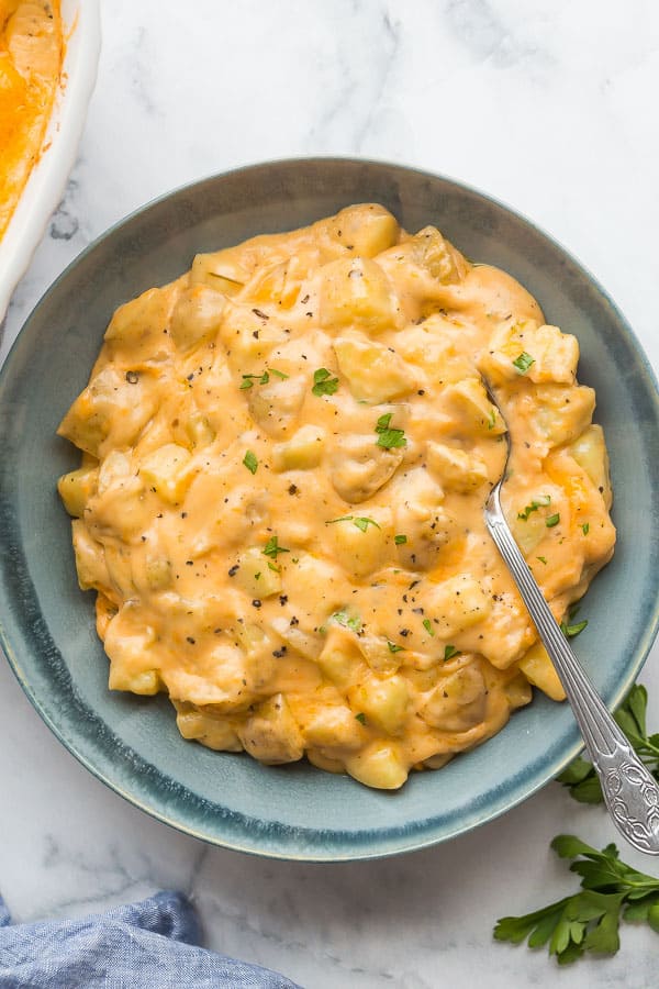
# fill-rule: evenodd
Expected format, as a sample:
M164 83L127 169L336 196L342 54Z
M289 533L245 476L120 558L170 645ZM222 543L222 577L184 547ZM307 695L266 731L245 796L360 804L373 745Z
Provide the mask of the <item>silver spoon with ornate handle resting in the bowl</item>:
M487 381L483 384L505 423L505 416L492 389ZM500 492L511 454L507 424L505 436L507 453L503 471L485 502L488 531L517 585L563 686L591 762L600 777L604 801L616 827L639 852L659 855L659 786L629 745L583 671L526 565L503 514Z

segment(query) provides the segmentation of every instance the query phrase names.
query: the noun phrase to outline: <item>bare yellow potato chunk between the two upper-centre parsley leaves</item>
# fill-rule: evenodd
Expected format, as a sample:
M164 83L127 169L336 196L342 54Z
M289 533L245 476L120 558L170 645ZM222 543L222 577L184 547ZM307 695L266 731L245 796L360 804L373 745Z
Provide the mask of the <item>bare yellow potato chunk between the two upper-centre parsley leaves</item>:
M334 351L342 375L358 400L387 402L414 388L405 362L390 347L359 336L339 336Z

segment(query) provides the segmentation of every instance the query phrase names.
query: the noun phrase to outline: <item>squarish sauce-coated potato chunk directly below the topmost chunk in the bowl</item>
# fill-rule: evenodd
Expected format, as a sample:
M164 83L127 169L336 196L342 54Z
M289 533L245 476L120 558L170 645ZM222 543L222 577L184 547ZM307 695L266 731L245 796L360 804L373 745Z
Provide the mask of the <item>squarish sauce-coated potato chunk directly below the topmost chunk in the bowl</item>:
M321 326L335 332L360 326L371 333L395 330L399 310L392 286L377 264L365 257L339 258L322 270Z

